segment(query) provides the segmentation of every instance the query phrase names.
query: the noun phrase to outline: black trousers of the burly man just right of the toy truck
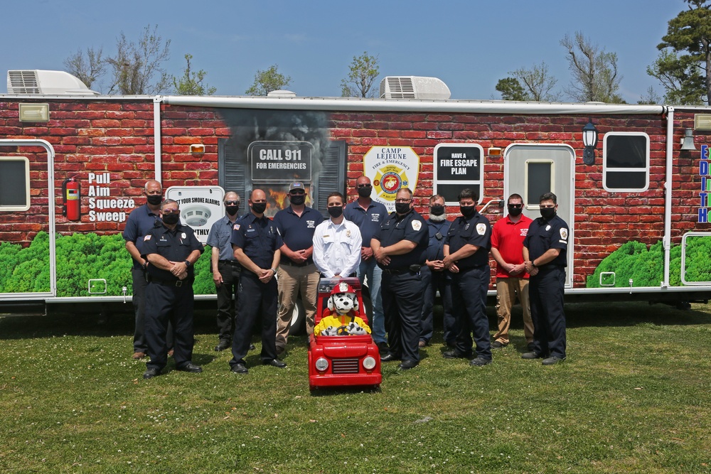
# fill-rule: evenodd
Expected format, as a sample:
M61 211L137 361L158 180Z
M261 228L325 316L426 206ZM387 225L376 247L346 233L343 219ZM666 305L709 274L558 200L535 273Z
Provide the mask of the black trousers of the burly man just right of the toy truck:
M387 345L395 357L419 362L419 334L422 333L422 278L406 271L388 274L380 282Z

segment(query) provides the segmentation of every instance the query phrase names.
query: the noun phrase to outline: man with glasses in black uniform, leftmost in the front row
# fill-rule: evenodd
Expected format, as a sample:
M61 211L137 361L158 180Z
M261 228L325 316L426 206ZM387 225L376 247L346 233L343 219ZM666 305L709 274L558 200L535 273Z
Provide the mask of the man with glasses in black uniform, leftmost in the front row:
M144 379L161 373L168 360L166 331L168 321L175 330L173 358L178 370L202 372L193 364L193 264L203 253L203 244L187 225L180 223L178 203L166 199L161 204L162 222L143 238L148 266L146 289L146 343L150 362Z

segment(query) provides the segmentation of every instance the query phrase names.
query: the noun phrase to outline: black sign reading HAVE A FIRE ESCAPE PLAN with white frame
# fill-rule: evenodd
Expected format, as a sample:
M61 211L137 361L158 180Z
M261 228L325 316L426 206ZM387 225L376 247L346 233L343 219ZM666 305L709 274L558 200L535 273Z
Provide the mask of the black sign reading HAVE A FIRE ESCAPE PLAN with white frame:
M481 193L484 150L476 144L439 144L434 147L434 193L444 196L447 205L459 203L464 188Z

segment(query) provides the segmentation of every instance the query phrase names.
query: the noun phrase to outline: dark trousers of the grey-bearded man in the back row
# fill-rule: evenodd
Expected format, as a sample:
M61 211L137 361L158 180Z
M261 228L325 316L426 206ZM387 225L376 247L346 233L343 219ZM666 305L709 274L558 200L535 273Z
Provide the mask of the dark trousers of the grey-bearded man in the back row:
M459 334L459 326L454 323L454 315L451 312L451 285L449 275L444 271L432 271L425 265L420 269L422 275L422 291L424 299L422 303L422 334L420 340L429 343L434 333L434 299L439 290L442 297L442 307L444 308L444 342L454 345L456 335Z

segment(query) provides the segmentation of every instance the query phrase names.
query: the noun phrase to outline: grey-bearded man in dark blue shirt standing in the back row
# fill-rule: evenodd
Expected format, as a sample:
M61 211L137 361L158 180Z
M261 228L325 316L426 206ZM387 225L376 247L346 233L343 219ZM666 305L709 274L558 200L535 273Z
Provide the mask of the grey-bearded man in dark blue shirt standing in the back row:
M429 245L427 259L422 266L422 289L424 291L424 306L422 306L422 334L419 335L419 347L429 345L434 333L434 296L439 290L444 308L444 343L454 345L459 330L454 327L454 316L451 313L451 289L449 286L449 271L444 270L444 239L449 232L451 222L444 212L444 198L435 194L429 198Z

